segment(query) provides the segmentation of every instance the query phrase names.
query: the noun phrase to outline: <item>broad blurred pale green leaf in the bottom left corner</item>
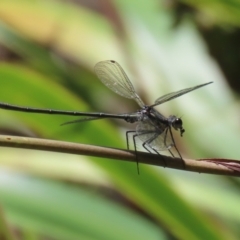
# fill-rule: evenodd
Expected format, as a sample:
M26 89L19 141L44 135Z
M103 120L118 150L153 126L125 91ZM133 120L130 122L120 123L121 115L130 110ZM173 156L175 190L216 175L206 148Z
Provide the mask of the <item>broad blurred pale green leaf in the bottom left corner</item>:
M122 206L54 181L1 172L0 201L17 227L52 238L165 239L155 224Z

